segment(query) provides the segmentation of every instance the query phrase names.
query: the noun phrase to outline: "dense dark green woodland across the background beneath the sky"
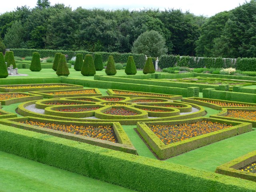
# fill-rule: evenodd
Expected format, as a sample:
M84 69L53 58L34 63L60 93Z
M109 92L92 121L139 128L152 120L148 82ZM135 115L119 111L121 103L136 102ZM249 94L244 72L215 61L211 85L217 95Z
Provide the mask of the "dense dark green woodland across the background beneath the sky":
M7 48L131 52L143 32L155 30L168 54L256 57L256 0L210 18L181 10L100 10L38 0L0 15Z

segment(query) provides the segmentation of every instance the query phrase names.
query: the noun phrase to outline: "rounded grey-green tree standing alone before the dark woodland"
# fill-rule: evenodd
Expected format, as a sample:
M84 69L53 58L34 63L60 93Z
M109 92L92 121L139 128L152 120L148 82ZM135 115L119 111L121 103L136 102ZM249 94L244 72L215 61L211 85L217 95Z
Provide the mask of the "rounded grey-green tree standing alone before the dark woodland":
M146 31L138 36L132 47L133 53L146 54L152 57L161 56L167 51L164 37L154 30Z

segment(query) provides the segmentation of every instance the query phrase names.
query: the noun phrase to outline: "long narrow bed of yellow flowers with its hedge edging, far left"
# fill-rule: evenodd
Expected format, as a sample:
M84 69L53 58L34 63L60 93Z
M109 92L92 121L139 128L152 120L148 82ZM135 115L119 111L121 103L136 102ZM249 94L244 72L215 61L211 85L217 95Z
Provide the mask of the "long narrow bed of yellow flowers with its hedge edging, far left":
M81 89L83 86L63 83L0 85L1 92L28 92L39 90Z

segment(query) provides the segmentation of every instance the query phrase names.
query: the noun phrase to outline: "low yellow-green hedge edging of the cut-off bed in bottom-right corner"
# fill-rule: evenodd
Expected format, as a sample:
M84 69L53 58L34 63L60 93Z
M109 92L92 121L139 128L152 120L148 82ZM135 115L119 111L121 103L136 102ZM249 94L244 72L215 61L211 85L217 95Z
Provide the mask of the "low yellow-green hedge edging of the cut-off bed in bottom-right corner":
M238 177L256 182L256 174L246 171L238 170L244 166L256 161L256 151L250 152L244 156L238 157L228 163L218 166L215 170L216 173Z

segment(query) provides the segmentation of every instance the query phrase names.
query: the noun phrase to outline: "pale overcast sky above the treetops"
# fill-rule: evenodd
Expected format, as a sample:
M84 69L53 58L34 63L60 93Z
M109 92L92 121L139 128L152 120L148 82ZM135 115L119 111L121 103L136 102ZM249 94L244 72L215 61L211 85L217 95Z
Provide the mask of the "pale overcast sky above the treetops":
M37 0L8 0L0 6L0 13L13 11L17 6L27 5L30 8L34 8L36 2ZM104 8L106 10L122 8L129 10L159 8L160 10L164 10L165 8L174 8L181 9L182 12L189 11L195 15L213 16L218 12L231 10L239 6L239 4L243 4L245 0L50 0L50 2L51 5L63 3L66 6L72 7L72 10L80 6L88 9Z

